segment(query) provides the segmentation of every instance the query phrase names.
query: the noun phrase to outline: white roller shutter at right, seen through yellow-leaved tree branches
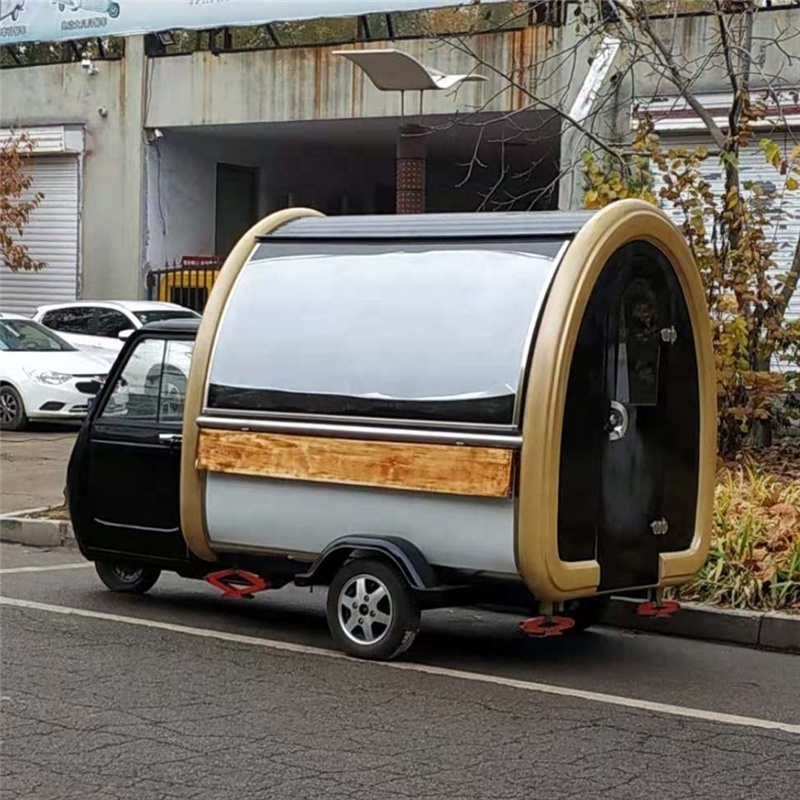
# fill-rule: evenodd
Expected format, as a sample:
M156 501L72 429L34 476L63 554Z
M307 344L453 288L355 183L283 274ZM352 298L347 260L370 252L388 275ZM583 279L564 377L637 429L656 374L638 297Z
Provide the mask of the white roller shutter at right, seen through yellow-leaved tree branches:
M773 138L784 150L791 150L794 144L794 139L788 135L773 135L770 138ZM711 149L710 138L707 136L662 134L662 144L665 149L670 147L691 148L697 145ZM725 191L725 175L719 160L713 157L709 158L705 162L703 172L706 180L712 186L715 197L722 197ZM763 184L772 182L777 189L781 188L783 179L766 163L764 153L755 144L740 152L739 172L743 184L748 181ZM676 221L679 221L677 213L671 210L669 204L665 206L664 210L674 215ZM800 192L786 192L783 197L782 209L780 212L775 210L773 219L775 222L771 227L770 235L777 245L774 256L776 263L774 274L779 275L788 272L800 241ZM794 293L786 314L790 319L800 318L800 287Z

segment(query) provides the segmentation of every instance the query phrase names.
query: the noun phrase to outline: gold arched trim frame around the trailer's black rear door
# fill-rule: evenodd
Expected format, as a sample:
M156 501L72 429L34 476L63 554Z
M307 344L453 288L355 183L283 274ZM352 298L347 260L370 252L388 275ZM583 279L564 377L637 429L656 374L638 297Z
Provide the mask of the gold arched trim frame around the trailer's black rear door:
M669 218L642 200L622 200L599 211L570 244L534 343L522 429L517 563L526 585L541 600L591 595L600 584L597 561L562 561L558 554L561 432L570 366L589 298L611 256L633 241L649 242L672 264L689 310L697 356L700 442L695 531L687 550L661 554L659 585L688 580L708 554L716 471L716 383L705 293L691 251Z

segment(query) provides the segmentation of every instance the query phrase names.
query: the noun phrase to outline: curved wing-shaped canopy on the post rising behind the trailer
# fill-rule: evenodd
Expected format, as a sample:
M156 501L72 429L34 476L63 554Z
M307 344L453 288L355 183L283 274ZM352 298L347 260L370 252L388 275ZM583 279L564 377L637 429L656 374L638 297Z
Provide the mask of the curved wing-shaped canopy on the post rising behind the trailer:
M485 81L483 75L445 75L426 67L414 56L393 48L380 50L334 50L361 67L376 88L384 92L452 89L459 83Z

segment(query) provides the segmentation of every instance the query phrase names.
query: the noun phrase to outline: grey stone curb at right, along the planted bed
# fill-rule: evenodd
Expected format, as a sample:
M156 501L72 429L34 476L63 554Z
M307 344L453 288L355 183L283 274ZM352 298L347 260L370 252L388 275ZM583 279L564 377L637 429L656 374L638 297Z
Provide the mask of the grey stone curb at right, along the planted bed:
M639 602L627 597L613 598L600 619L600 624L640 633L800 653L800 615L797 614L739 611L698 603L682 603L680 612L674 617L653 619L636 614Z

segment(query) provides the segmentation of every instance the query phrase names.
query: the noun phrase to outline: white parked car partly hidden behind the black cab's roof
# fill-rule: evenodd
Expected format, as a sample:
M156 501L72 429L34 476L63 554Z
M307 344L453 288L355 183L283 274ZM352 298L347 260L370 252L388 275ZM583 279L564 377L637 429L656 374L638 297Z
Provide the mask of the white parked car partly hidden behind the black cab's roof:
M158 301L84 301L41 306L34 319L81 350L111 365L133 331L149 322L197 319L199 314L174 303Z

